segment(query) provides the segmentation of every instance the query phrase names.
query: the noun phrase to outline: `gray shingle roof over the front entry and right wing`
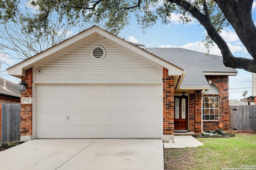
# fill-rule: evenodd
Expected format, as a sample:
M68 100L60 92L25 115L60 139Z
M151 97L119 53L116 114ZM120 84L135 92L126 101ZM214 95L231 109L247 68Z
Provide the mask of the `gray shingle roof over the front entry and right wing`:
M210 88L205 75L237 75L237 70L226 67L222 56L183 48L146 48L150 53L187 71L180 89Z

